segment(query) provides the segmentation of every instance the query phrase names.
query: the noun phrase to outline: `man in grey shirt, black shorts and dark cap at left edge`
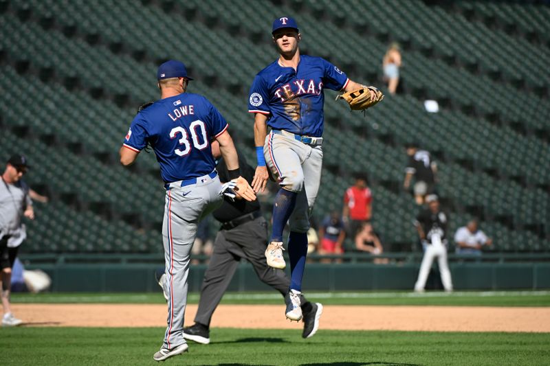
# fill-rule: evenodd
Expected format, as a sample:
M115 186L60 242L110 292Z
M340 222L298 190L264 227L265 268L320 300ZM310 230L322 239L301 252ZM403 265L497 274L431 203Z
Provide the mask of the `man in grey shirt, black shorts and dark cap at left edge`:
M3 326L15 326L22 323L14 317L10 308L10 285L12 266L17 257L19 247L8 248L11 236L17 233L21 227L23 216L34 219L34 209L29 196L29 187L21 177L27 172L29 166L27 159L22 155L13 155L5 165L0 184L0 277L3 306Z

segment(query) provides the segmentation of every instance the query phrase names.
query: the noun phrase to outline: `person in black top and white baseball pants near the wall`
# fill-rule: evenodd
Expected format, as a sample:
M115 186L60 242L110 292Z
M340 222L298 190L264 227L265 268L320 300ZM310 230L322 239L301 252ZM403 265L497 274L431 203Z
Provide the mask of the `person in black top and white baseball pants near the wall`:
M426 203L428 203L428 209L421 211L415 221L418 236L424 249L415 291L423 292L432 263L437 258L443 288L445 288L445 291L451 292L452 280L447 263L447 239L445 238L449 217L439 207L439 199L435 194L426 196Z

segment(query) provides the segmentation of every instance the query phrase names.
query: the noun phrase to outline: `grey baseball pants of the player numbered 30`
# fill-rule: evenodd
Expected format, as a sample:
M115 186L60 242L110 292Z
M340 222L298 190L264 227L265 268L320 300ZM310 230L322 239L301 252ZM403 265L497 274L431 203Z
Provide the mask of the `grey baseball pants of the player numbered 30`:
M168 292L164 347L168 349L186 343L183 330L191 248L199 221L221 205L220 190L217 175L214 178L201 176L195 184L184 187L181 181L170 183L166 190L162 238Z

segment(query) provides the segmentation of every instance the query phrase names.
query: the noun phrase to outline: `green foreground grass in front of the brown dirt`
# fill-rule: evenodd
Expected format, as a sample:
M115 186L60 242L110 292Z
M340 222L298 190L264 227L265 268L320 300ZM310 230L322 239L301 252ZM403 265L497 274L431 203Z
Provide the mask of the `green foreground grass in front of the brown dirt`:
M155 365L162 328L7 328L2 365ZM548 365L550 334L213 329L166 365Z

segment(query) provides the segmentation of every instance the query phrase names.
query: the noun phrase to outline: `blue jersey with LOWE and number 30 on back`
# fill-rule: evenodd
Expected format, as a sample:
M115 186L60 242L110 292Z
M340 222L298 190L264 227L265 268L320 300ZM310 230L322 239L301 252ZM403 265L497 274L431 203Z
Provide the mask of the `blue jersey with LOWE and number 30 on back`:
M137 113L124 146L155 151L164 182L210 174L216 163L210 139L228 128L221 113L202 95L181 93L164 98Z

